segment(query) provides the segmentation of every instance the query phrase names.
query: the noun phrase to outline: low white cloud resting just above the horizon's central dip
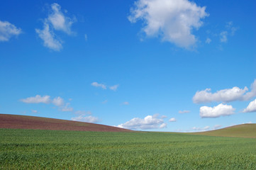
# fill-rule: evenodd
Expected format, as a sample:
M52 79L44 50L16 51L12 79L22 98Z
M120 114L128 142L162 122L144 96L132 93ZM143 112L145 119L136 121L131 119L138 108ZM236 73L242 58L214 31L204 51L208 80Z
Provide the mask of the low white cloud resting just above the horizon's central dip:
M159 129L166 128L166 123L158 115L147 115L145 118L133 118L126 123L118 125L118 128L146 130L146 129Z

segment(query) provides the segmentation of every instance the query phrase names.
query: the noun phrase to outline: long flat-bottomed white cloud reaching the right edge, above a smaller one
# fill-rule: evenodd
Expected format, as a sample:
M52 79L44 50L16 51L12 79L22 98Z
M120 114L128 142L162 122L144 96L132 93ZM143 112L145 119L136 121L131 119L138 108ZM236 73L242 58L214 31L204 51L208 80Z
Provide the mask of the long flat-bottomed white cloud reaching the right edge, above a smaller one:
M232 89L223 89L216 93L211 93L211 89L197 91L193 97L194 103L208 103L213 101L230 102L230 101L247 101L256 96L256 79L251 85L251 91L248 88L240 89L234 86Z

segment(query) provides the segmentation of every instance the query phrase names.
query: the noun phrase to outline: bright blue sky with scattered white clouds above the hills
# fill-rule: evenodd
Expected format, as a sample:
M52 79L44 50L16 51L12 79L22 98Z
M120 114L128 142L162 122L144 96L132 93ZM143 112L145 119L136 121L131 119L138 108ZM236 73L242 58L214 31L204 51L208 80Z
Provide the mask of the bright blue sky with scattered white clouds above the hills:
M256 123L248 1L1 1L0 113L194 132Z

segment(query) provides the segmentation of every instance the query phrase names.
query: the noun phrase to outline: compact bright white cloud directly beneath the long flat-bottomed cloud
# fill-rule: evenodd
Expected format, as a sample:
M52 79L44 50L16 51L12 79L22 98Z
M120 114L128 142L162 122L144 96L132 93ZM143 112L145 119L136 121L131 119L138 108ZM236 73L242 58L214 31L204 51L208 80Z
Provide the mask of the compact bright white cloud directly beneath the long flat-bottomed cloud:
M201 118L218 118L225 115L233 115L235 108L230 105L223 105L222 103L213 108L208 106L202 106L200 108Z

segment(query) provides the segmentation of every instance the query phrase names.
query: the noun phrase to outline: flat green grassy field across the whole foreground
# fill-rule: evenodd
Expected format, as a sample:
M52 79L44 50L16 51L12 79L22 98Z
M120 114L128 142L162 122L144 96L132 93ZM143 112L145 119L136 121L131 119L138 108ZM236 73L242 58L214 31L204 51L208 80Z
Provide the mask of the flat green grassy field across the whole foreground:
M0 129L0 169L256 169L256 139Z

